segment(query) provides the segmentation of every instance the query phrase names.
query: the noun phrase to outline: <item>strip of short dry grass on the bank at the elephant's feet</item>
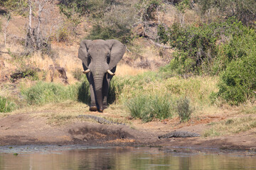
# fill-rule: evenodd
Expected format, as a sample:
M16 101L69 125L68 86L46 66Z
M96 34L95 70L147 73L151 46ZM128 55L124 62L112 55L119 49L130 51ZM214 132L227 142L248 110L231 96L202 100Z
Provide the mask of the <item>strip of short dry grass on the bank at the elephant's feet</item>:
M64 125L67 123L88 121L89 119L77 118L78 115L97 115L99 117L118 123L131 124L127 117L129 113L124 111L123 106L110 106L104 113L89 112L89 106L78 101L63 101L61 103L47 103L43 106L28 106L5 115L12 114L31 114L47 118L50 125ZM95 121L95 120L89 120Z

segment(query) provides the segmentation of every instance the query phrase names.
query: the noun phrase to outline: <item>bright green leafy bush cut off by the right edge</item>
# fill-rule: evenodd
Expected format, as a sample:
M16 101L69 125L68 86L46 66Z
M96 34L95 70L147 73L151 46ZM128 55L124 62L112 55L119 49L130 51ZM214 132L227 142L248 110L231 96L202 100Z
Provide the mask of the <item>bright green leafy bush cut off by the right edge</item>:
M223 62L226 69L220 76L218 95L231 105L238 105L247 99L255 98L256 91L256 34L245 28L240 36L223 48Z

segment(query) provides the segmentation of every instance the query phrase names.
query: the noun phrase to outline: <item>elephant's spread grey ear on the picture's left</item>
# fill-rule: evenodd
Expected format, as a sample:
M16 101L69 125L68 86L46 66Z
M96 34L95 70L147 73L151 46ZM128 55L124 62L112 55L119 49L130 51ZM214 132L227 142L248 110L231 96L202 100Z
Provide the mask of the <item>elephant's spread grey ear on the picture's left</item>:
M85 67L87 68L88 68L88 64L90 64L88 62L89 59L88 59L87 50L91 41L92 40L82 40L80 43L80 48L78 50L78 58L82 60L83 64L85 64Z

